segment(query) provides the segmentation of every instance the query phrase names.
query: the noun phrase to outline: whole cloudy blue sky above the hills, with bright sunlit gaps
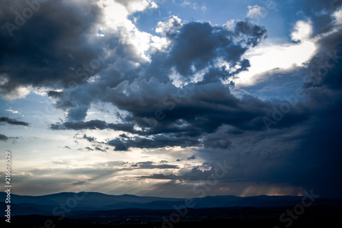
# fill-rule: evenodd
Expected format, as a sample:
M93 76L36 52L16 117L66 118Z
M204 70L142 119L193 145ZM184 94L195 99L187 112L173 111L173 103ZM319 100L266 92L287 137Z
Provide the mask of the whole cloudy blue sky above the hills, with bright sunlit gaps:
M12 193L341 198L341 0L0 5Z

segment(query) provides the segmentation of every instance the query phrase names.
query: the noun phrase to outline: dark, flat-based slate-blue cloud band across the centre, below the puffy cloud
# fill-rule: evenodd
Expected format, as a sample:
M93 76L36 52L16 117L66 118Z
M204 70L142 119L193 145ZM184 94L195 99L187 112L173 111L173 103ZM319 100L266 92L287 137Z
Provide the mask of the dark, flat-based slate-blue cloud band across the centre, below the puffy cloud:
M144 128L150 127L149 134L174 133L176 137L192 136L199 137L204 133L213 133L222 125L235 126L240 130L265 130L263 117L272 115L273 104L263 102L252 96L235 98L228 87L222 83L209 83L205 85L196 85L183 87L187 96L177 97L167 94L165 87L163 96L158 97L153 87L155 81L141 85L141 91L150 91L150 96L142 100L138 96L139 91L131 93L130 98L122 97L118 99L118 106L130 111L135 116L137 124ZM163 88L163 87L162 87ZM160 88L160 89L162 89ZM130 88L127 87L130 91ZM160 94L159 94L160 96ZM114 98L116 99L116 98ZM128 104L130 100L135 100L135 106ZM120 102L120 103L119 103ZM163 104L161 104L163 103ZM278 104L279 106L280 104ZM150 107L144 109L144 107ZM279 107L277 107L279 109ZM284 118L287 126L302 122L309 116L302 115L305 106L298 104L298 109L292 109ZM161 110L163 115L155 115L155 111ZM163 117L160 121L150 120L150 117ZM278 124L276 128L286 128L284 124Z

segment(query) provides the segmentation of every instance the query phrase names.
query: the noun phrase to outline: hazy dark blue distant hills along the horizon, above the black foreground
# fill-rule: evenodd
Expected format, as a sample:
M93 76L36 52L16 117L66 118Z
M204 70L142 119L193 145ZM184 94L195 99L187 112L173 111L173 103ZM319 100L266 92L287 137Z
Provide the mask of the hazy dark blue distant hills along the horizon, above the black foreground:
M0 193L5 199L6 193ZM208 196L203 198L187 199L189 208L232 208L232 207L286 207L302 202L303 197L296 196L255 196L236 197ZM38 214L53 215L53 210L60 210L61 203L73 212L77 211L105 211L122 210L128 208L149 210L173 210L174 207L185 208L185 199L163 197L139 197L136 195L106 195L103 193L54 193L42 196L11 195L12 215ZM342 200L317 199L315 205L341 205ZM1 206L5 204L0 202ZM15 205L15 206L14 206ZM189 206L191 205L191 206Z

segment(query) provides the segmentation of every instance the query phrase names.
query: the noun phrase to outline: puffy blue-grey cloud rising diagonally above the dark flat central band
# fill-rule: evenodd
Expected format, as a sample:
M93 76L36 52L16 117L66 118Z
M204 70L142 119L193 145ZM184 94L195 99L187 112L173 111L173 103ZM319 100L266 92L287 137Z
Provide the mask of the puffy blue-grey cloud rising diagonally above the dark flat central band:
M167 53L165 51L152 53L153 61L149 64L141 63L140 68L131 65L131 62L141 62L131 46L118 42L118 38L113 35L108 37L106 35L103 42L107 42L107 48L114 48L116 55L105 59L105 62L114 64L105 65L98 72L101 75L99 81L69 91L70 99L65 98L64 92L50 91L49 96L57 99L58 109L68 111L70 121L83 120L90 103L101 100L133 113L131 121L142 124L144 118L155 115L156 110L164 109L165 106L170 108L165 104L168 102L164 99L166 96L176 94L179 90L181 93L186 92L184 89L177 89L168 78L173 67L187 77L186 81L189 81L190 74L209 67L205 79L198 85L221 84L220 79L228 79L248 69L249 61L243 59L242 55L250 46L256 45L266 37L265 28L247 22L237 23L235 31L227 31L223 27L211 26L209 23L188 23L183 27L179 26L179 29L179 33L170 37L170 50ZM224 67L213 68L218 58L238 66L235 72L228 72ZM144 87L144 90L136 87ZM126 89L133 89L131 95L123 93ZM154 94L155 97L151 97L150 94ZM170 128L169 132L176 130L170 126L170 123L165 124L164 128ZM159 130L159 132L163 131ZM196 134L196 130L192 129L191 134Z

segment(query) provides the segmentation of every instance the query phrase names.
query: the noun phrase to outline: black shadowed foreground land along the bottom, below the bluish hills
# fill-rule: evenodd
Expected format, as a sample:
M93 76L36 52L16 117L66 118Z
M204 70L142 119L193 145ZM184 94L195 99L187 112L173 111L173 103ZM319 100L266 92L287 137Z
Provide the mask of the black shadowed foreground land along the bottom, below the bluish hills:
M300 215L287 215L293 207L277 208L200 208L176 210L125 209L70 212L67 218L55 216L12 216L11 223L1 220L1 227L340 227L341 206L312 205ZM283 222L279 220L280 215ZM302 214L301 214L302 213ZM171 219L171 220L170 220Z

